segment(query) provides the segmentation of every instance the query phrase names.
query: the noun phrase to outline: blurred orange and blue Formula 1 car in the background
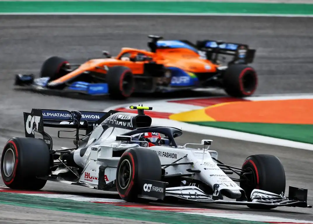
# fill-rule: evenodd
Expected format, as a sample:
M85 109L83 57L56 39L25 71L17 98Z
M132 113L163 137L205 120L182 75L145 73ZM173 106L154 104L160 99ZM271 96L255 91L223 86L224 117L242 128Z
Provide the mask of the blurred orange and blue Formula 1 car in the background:
M122 48L112 57L83 64L70 64L66 59L51 57L41 67L40 78L17 74L15 85L38 91L75 92L126 99L132 93L171 92L197 88L223 88L233 97L254 93L257 74L252 63L255 50L246 44L202 40L161 40L149 35L150 51ZM219 57L230 57L222 63ZM228 55L228 56L227 56Z

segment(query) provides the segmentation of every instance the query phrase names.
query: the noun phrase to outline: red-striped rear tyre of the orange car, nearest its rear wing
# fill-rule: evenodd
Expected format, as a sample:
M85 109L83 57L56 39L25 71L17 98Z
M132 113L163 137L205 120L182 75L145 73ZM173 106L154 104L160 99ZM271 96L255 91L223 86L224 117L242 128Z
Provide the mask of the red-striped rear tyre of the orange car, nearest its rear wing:
M255 70L245 64L233 64L223 75L225 92L233 97L251 96L258 85Z

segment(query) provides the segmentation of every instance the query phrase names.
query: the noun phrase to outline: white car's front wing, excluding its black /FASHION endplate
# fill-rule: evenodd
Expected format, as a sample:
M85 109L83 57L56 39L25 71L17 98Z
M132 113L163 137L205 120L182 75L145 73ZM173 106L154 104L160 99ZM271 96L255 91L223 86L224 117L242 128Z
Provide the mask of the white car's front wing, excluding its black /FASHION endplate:
M196 186L182 186L166 188L165 197L176 197L183 201L199 202L207 204L226 205L262 205L262 206L291 206L311 208L307 205L307 189L289 187L289 197L274 194L268 191L254 189L251 193L251 201L226 201L213 200Z

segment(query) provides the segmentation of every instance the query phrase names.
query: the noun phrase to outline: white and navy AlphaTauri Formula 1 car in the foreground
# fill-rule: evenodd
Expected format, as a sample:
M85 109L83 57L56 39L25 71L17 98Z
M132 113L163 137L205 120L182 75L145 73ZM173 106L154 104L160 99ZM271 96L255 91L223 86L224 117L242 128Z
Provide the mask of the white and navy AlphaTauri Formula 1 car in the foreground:
M144 109L151 107L130 108L138 112L24 112L26 137L9 139L2 153L3 182L12 189L38 190L47 180L58 181L117 191L128 202L176 198L264 209L312 207L306 202L307 189L290 186L289 197L284 195L285 171L277 157L251 155L241 168L226 165L218 160L217 151L209 150L212 140L177 145L175 138L182 135L182 130L151 126L151 117L144 114ZM75 128L67 132L76 133L76 147L53 149L44 126ZM80 130L86 130L81 138ZM35 133L43 138L34 138ZM160 133L164 137L151 142L137 138L140 133ZM203 148L197 149L198 145Z

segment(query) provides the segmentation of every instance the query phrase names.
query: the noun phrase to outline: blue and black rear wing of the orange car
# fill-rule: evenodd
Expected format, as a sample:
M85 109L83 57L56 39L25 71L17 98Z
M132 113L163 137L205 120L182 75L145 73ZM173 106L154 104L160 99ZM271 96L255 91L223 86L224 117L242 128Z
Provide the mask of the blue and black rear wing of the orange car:
M199 50L205 51L207 53L207 58L213 62L217 61L219 54L233 55L234 58L229 64L250 64L253 62L256 52L255 49L249 49L247 44L226 43L215 40L197 41L196 46Z

